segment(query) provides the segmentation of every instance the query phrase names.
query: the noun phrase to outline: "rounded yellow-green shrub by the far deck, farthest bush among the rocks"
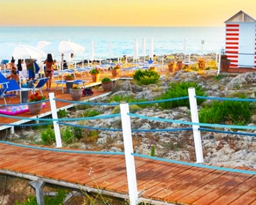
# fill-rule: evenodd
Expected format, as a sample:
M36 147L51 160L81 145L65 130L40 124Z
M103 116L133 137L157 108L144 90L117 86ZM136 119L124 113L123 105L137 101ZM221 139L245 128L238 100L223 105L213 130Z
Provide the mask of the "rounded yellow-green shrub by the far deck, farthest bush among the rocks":
M137 70L133 76L133 79L137 84L156 84L160 76L153 70Z

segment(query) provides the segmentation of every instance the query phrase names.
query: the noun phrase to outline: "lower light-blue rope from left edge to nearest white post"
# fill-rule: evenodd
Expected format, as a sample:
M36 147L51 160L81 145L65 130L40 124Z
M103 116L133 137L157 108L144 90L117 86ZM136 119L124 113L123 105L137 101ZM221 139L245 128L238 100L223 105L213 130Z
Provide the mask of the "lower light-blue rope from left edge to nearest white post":
M124 155L124 152L110 152L110 151L78 151L78 150L67 150L67 149L55 149L55 148L46 148L46 147L34 147L30 145L21 145L17 143L11 143L9 141L0 141L0 143L13 145L17 147L24 147L30 149L40 149L46 151L57 151L57 152L65 152L65 153L84 153L84 154L97 154L97 155Z

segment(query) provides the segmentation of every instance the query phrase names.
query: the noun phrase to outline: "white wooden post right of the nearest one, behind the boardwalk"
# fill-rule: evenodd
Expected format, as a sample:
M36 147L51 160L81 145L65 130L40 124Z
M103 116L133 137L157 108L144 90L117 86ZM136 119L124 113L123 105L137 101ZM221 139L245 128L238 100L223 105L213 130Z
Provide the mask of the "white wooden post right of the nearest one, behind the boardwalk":
M188 94L189 94L189 105L190 105L190 111L191 111L191 121L192 123L199 123L198 104L196 102L196 97L195 97L196 96L195 88L188 88ZM192 127L193 127L194 143L195 143L195 149L196 149L196 162L204 163L201 133L198 130L200 127L198 125L192 125Z

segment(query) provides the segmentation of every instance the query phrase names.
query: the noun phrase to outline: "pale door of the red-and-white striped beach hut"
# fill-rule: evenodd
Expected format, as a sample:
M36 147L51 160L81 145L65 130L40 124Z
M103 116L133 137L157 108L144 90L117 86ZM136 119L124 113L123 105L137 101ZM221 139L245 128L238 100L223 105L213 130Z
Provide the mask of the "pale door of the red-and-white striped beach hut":
M239 26L239 67L253 68L255 53L255 23Z

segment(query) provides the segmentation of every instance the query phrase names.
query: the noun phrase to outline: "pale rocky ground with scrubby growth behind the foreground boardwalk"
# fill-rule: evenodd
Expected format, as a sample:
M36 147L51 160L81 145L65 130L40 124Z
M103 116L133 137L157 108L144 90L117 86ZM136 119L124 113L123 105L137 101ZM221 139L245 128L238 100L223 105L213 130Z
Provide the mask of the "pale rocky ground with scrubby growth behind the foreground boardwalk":
M160 96L169 88L169 82L193 81L202 85L208 96L234 97L238 92L245 93L249 98L255 98L256 72L245 74L229 74L216 77L216 70L205 70L200 72L180 70L175 74L167 74L162 76L157 85L138 86L134 82L118 81L114 85L112 95L134 96L135 98L146 98L153 100L156 96ZM105 102L108 97L98 98L96 102ZM99 106L91 109L103 113L102 115L110 115L114 108L112 106ZM199 107L200 109L200 107ZM69 117L81 117L84 110L69 111ZM131 113L138 115L146 115L148 117L159 117L164 119L176 119L180 121L191 121L189 108L177 107L172 110L159 109L155 107L147 107L140 109L136 106L130 108ZM256 116L251 117L249 125L255 126ZM105 127L112 129L120 129L120 117L112 119L99 119L96 121L83 121L79 125L91 127ZM176 123L162 123L159 121L148 121L146 119L138 119L131 117L132 129L172 129L187 127ZM230 129L226 129L230 131ZM242 131L238 131L242 132ZM254 130L243 130L243 132L256 133ZM134 152L151 155L152 147L155 147L155 155L157 157L165 157L167 159L176 159L184 161L196 161L194 150L194 139L192 131L179 132L136 132L132 134L134 142ZM205 163L215 165L228 165L231 167L247 166L256 167L256 139L255 137L243 135L229 135L223 133L201 132L202 145L204 149ZM22 130L16 131L15 135L5 135L6 139L22 142L35 143L40 142L40 131ZM68 147L75 147L87 150L98 151L124 151L122 133L114 131L100 131L95 141L85 143L80 141Z

